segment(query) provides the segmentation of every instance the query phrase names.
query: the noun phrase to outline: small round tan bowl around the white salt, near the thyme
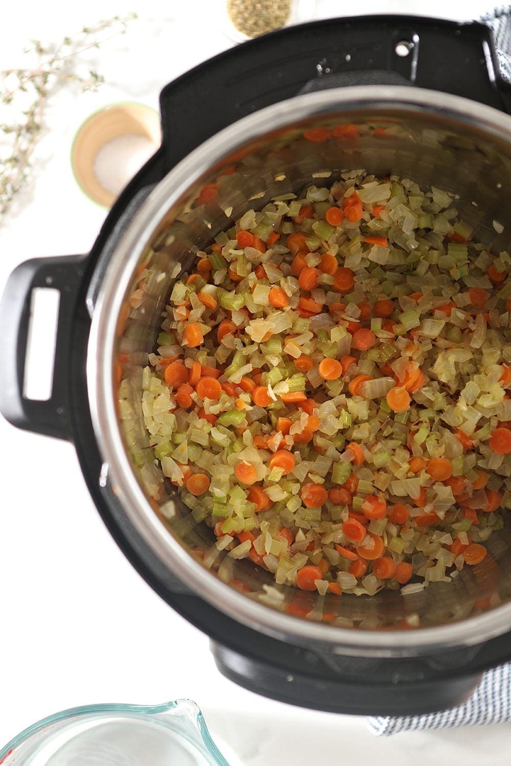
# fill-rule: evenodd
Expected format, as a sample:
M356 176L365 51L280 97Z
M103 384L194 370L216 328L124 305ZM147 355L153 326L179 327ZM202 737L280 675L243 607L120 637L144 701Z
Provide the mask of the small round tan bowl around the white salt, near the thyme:
M84 193L103 208L110 208L116 195L97 178L94 161L106 143L120 136L142 136L161 143L159 114L150 106L135 102L113 103L91 114L80 126L71 146L71 168Z

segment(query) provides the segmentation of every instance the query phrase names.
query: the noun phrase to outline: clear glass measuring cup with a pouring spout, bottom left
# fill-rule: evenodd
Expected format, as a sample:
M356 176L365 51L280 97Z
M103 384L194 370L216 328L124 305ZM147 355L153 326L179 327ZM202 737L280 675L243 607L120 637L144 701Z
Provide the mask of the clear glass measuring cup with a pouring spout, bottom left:
M0 750L2 766L229 766L198 705L86 705L50 715Z

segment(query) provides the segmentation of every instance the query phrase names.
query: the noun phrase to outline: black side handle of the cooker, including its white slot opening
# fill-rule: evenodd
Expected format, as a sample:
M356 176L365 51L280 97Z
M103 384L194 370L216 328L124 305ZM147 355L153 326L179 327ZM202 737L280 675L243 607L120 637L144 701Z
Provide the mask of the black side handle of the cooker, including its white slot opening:
M67 365L84 258L25 261L0 302L0 412L18 428L60 439L70 439Z

